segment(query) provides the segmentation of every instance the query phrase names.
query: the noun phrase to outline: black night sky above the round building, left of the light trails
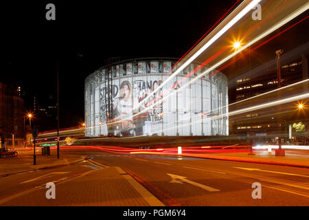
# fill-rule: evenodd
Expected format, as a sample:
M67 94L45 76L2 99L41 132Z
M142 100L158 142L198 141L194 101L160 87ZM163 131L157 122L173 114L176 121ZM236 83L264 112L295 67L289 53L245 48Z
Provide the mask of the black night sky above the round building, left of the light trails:
M56 95L60 127L84 119L84 79L106 58L180 58L236 1L21 1L1 5L1 80ZM45 5L56 5L56 21ZM79 56L82 54L82 56ZM44 102L44 100L41 100Z

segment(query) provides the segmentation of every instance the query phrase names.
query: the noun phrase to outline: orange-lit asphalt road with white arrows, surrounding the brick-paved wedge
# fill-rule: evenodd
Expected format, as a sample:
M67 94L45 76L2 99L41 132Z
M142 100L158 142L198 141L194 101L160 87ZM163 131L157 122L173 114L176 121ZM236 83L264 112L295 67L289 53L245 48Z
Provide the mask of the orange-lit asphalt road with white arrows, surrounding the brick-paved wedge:
M121 167L166 206L309 206L306 168L99 150L65 153ZM78 163L1 177L0 201L16 192L42 188L48 181L76 181L78 175L93 169L91 164ZM260 199L253 199L252 194L258 195L253 193L253 183L261 186Z

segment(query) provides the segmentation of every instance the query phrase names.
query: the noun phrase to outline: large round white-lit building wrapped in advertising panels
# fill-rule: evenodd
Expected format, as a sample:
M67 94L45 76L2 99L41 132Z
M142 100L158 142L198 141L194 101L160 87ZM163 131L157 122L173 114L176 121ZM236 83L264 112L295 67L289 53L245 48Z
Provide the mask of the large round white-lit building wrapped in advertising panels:
M228 135L227 77L193 63L170 78L176 61L128 60L89 75L85 135Z

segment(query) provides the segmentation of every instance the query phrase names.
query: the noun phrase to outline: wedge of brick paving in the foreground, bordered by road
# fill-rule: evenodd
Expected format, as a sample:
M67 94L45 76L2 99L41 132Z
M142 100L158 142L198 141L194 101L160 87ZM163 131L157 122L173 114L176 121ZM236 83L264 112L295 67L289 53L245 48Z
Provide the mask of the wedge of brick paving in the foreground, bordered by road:
M107 167L91 170L85 175L56 184L56 199L46 199L47 188L21 192L21 196L0 201L1 206L163 206L157 198L149 194L141 195L143 186L121 168ZM146 190L144 188L144 190ZM144 192L145 193L145 192ZM147 201L146 201L147 200Z

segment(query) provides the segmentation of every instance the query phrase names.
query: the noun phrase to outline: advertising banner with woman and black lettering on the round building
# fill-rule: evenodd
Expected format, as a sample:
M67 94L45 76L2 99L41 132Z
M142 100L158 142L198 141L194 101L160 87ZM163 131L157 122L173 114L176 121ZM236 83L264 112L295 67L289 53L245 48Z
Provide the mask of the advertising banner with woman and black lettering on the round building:
M110 81L111 83L111 81ZM112 124L115 133L123 136L150 135L155 124L162 123L163 104L157 104L162 96L159 76L135 76L113 80L113 85L100 85L100 124ZM98 90L98 89L97 89ZM109 92L109 94L108 94ZM147 101L146 100L147 97ZM109 100L108 100L109 98ZM109 102L109 103L108 103ZM108 104L111 104L111 118L108 120ZM104 129L107 131L107 129Z

